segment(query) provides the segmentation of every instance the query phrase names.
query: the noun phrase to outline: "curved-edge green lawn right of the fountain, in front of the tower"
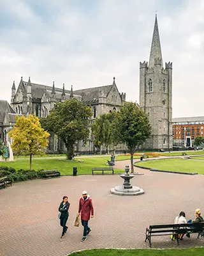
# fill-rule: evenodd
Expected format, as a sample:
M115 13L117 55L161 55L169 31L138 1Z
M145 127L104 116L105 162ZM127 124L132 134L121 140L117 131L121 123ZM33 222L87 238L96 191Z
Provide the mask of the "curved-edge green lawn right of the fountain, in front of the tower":
M161 159L154 161L144 161L136 163L138 166L157 168L159 170L170 170L177 172L197 172L204 174L203 161L193 161L191 159Z

